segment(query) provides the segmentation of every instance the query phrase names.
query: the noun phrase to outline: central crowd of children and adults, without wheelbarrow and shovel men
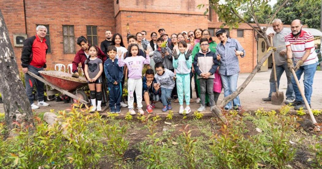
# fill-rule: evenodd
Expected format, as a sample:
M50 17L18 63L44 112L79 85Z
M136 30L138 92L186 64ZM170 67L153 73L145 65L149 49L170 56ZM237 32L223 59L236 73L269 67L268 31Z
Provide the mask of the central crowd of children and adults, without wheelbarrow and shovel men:
M153 113L155 103L159 101L163 104L163 112L171 110L172 99L175 99L174 102L180 105L179 113L189 114L193 77L196 102L201 103L198 111L216 104L222 89L214 90L215 84L221 86L223 82L225 96L236 90L240 71L238 57L244 57L245 50L236 39L227 36L224 29L215 33L221 41L218 45L207 29L173 33L170 37L163 28L158 33L159 38L152 32L150 41L146 31L135 35L128 33L128 48L125 48L122 36L111 31L105 32L106 39L101 42L100 49L89 45L83 36L77 39L81 50L72 62L72 72L78 76L77 68L81 63L90 87L93 105L90 111L101 111L104 96L107 96L105 88L109 91L110 112L120 113L121 107L128 106L131 115L136 114L135 107L138 113L145 113L142 99L146 102L147 113ZM215 74L221 77L220 84L214 83ZM122 98L126 76L128 105ZM240 111L239 97L224 109Z

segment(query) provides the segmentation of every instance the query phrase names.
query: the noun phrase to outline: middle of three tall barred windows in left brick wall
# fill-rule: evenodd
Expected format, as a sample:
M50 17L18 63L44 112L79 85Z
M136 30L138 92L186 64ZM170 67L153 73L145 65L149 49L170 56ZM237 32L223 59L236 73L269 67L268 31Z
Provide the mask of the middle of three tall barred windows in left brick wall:
M64 53L75 53L74 25L63 25Z

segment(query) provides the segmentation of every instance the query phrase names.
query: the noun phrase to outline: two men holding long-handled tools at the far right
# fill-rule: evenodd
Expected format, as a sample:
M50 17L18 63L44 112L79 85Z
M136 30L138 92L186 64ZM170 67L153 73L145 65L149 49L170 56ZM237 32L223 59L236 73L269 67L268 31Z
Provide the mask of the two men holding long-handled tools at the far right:
M300 20L296 19L291 23L291 29L287 30L283 27L280 19L272 22L274 33L270 33L269 37L273 39L273 46L279 47L274 52L277 84L285 71L287 77L286 104L294 106L294 109L307 109L304 99L299 92L296 81L292 75L292 69L300 80L304 73L304 93L305 98L311 107L311 95L313 91L313 79L318 64L317 44L314 44L314 37L311 33L303 30ZM270 75L270 93L264 101L270 101L272 92L276 92L273 71ZM295 99L295 100L294 100Z

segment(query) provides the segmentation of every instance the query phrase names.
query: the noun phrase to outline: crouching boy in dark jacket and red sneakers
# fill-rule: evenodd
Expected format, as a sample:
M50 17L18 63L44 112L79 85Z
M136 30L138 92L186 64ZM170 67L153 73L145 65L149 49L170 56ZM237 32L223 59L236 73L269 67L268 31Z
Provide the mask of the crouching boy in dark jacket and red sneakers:
M154 79L154 71L152 69L148 69L145 72L145 76L143 77L143 98L145 103L147 104L147 113L153 113L153 108L155 108L156 102L160 101L161 98L161 90L160 85L156 83L156 79ZM151 105L150 105L151 100Z

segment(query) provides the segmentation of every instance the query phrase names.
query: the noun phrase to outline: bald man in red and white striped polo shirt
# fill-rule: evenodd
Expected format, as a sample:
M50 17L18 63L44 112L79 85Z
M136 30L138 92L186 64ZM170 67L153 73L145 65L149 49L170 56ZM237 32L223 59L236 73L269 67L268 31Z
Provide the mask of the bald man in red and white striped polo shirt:
M302 30L302 27L303 25L299 19L292 21L292 33L287 34L284 39L285 44L287 45L288 68L290 71L291 69L295 70L298 80L300 80L301 75L304 73L303 83L305 98L308 100L308 104L311 107L311 95L313 90L312 85L318 58L317 53L314 52L313 35ZM292 61L292 52L294 54L294 63ZM296 110L300 109L301 107L306 109L294 77L292 77L291 81L295 92L295 101L292 105L295 106Z

